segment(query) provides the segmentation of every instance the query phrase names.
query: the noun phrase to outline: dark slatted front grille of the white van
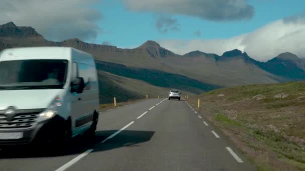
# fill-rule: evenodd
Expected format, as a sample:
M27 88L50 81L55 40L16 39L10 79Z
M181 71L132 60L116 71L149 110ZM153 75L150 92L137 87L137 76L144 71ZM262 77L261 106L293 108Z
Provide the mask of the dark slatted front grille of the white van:
M15 129L32 127L43 109L16 110L13 118L5 114L5 110L0 110L0 129Z

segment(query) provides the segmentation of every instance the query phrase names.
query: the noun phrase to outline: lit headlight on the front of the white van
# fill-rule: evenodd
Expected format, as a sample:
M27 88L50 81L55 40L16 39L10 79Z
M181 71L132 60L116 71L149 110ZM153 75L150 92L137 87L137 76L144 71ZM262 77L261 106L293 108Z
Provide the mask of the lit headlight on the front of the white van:
M44 121L54 117L58 113L58 107L61 105L62 103L60 101L60 98L56 97L51 103L51 105L39 114L38 121Z

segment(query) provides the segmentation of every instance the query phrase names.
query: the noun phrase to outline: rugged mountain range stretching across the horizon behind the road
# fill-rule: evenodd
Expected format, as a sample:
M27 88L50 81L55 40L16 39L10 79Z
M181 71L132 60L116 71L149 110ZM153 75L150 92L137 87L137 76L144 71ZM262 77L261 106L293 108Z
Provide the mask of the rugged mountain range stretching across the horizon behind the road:
M222 55L198 50L179 55L152 40L127 49L87 43L78 38L49 41L30 26L17 26L13 22L0 25L0 50L24 46L75 47L95 57L97 68L107 72L103 77L113 74L111 78L116 75L130 78L129 81L139 80L158 88L180 88L193 94L240 84L305 79L305 59L290 52L266 62L257 61L238 49Z

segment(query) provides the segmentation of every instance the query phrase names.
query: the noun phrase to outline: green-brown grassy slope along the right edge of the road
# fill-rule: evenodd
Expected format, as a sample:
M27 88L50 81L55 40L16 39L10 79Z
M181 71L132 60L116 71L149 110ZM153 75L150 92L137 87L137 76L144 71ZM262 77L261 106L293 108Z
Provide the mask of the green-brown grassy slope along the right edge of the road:
M274 98L278 93L289 97ZM253 98L258 94L265 98ZM305 82L222 88L189 101L195 105L197 98L200 110L260 170L305 170Z

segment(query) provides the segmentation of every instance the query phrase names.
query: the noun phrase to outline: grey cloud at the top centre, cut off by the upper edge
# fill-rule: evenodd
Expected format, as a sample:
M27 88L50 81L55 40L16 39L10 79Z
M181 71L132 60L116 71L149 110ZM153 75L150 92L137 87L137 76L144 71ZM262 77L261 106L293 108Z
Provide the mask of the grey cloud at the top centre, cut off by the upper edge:
M197 16L208 20L250 19L254 7L246 0L121 0L134 11Z

